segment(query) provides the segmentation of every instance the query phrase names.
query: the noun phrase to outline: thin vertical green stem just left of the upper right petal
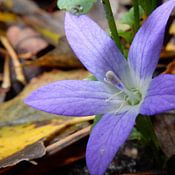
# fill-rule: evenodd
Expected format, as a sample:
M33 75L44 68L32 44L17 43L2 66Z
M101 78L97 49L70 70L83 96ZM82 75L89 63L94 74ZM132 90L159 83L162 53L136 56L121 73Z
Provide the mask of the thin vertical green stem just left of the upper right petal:
M133 0L134 6L134 33L136 33L140 27L140 14L138 0Z

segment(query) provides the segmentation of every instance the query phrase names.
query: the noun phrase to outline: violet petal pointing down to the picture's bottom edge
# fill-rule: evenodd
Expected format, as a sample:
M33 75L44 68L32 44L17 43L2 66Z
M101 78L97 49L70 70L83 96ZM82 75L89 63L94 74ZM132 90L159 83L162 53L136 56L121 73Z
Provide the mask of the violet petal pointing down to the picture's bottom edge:
M93 128L86 149L86 163L91 175L102 175L131 132L136 111L105 114Z

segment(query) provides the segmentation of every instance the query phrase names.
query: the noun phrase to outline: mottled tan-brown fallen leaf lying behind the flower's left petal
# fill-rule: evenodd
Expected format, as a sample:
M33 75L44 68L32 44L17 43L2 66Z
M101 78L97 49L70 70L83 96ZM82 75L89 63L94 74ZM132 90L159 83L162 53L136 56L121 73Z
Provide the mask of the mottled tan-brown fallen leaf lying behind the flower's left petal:
M57 115L47 114L25 105L23 102L24 98L33 90L50 82L63 79L83 79L88 75L89 73L87 71L81 69L74 71L55 70L33 78L20 95L8 102L0 104L0 126L58 118Z

